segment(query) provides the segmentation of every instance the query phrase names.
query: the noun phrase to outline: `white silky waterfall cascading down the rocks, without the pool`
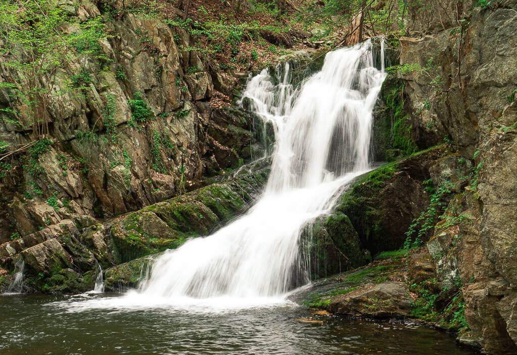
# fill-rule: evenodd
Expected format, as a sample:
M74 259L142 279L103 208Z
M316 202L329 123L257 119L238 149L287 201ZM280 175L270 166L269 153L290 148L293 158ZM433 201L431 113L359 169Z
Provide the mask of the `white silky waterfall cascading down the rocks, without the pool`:
M300 233L369 169L372 110L386 75L374 67L370 41L328 53L322 70L299 87L290 84L289 64L277 74L263 70L242 96L275 131L262 196L216 233L166 251L138 290L99 300L105 306L270 304L310 281Z

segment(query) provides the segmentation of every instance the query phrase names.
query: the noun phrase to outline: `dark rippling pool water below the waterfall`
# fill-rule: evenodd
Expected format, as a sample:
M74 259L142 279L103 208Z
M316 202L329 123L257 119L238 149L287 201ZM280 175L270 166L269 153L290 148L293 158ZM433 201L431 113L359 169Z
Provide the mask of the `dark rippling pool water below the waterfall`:
M343 319L311 314L294 304L219 313L166 307L71 312L64 304L75 299L0 296L0 353L475 353L459 347L445 333L412 322Z

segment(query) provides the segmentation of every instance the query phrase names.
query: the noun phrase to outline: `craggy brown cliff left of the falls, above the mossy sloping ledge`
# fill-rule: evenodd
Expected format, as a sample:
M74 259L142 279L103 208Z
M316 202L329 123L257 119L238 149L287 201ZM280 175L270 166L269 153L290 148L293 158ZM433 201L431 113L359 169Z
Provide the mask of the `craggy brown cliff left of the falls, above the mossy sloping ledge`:
M94 4L77 5L70 15L80 21L100 14ZM109 218L170 199L250 160L251 146L263 149L247 114L209 103L211 74L195 51L179 50L193 44L184 29L131 13L105 26L110 36L99 38L99 53L58 69L50 89L64 94L51 95L45 107L50 140L0 167L9 195L0 206L0 243L63 219ZM4 82L23 82L0 67ZM78 73L87 81L67 89ZM23 102L5 87L0 108L7 109L0 111L0 140L12 150L29 142L28 128L16 124L26 117L8 113L24 112Z

